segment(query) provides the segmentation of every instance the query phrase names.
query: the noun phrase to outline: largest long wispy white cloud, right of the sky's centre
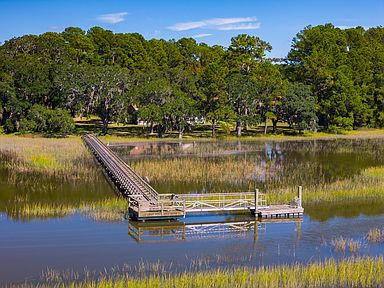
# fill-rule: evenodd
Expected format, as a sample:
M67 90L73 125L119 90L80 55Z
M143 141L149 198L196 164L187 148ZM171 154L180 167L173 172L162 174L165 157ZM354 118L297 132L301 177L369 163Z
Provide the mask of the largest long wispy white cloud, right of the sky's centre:
M239 28L241 26L245 28ZM260 27L260 23L257 22L256 17L211 18L201 21L176 23L172 26L169 26L168 29L172 31L186 31L198 28L207 28L214 30L232 30L230 29L231 27L234 28L233 30L257 29Z

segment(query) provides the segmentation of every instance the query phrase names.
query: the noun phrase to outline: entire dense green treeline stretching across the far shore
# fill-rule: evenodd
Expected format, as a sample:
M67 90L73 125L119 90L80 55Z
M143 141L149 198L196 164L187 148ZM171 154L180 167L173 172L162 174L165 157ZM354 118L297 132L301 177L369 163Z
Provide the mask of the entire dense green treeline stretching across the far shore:
M75 116L168 130L210 123L237 135L272 121L294 129L384 126L384 28L306 27L286 59L238 35L228 48L145 40L100 27L13 38L0 46L5 132L70 133ZM266 126L267 127L267 126Z

